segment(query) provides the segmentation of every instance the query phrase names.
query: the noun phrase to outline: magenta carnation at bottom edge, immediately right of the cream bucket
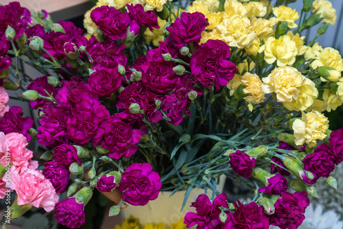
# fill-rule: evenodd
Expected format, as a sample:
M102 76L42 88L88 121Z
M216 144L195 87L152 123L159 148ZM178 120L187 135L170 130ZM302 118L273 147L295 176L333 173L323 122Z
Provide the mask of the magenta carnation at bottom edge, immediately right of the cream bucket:
M196 208L196 213L186 213L185 215L187 228L196 224L197 229L221 228L223 223L219 219L222 212L220 207L228 208L227 199L228 195L224 193L217 195L213 202L207 195L199 195L196 202L191 204L192 207Z

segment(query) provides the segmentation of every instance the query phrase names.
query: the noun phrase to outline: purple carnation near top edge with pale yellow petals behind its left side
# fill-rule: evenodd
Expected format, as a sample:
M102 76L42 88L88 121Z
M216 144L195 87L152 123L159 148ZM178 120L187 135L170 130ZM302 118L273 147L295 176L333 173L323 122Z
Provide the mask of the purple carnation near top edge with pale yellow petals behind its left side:
M126 38L128 21L130 21L126 15L112 6L103 5L92 10L91 19L105 35L118 40Z

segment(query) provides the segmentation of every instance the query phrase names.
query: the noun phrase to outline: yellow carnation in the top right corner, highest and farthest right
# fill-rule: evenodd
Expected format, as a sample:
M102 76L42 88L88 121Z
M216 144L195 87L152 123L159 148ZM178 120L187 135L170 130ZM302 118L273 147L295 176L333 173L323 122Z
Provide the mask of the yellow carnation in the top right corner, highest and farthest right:
M320 14L323 19L322 23L330 23L335 25L336 21L336 10L332 8L332 3L327 0L316 0L312 5L312 11L314 14Z

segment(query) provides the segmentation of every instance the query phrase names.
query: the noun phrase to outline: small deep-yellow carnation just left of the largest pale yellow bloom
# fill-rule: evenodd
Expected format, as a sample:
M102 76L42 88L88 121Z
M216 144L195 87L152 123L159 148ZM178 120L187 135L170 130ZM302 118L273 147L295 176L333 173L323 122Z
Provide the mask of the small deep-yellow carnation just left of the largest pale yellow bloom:
M252 104L259 104L265 99L265 94L262 90L262 82L258 75L247 72L242 75L241 83L244 86L244 94L248 95L247 97L244 97L244 99L248 102L249 110L252 111Z

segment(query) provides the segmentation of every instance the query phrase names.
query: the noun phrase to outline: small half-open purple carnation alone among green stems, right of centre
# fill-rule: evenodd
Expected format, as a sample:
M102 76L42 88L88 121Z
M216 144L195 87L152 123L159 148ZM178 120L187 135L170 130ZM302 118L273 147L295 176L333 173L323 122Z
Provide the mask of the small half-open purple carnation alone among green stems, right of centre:
M237 150L230 154L230 166L238 175L244 178L250 178L252 169L256 164L255 158L250 158L248 154Z

